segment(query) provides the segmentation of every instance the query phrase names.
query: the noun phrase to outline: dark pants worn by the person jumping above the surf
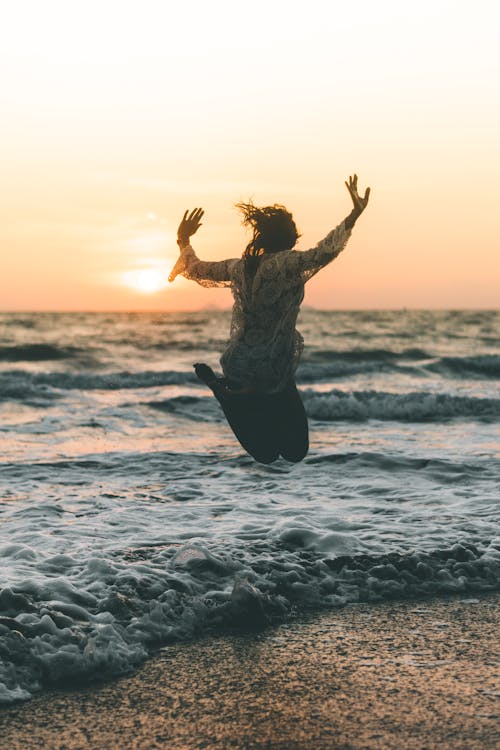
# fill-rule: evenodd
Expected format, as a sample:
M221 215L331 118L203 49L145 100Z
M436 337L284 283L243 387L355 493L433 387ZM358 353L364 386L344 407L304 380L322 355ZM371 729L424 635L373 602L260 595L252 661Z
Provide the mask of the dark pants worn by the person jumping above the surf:
M304 405L292 383L279 393L214 395L243 448L256 461L269 464L279 456L296 463L309 450L309 429Z

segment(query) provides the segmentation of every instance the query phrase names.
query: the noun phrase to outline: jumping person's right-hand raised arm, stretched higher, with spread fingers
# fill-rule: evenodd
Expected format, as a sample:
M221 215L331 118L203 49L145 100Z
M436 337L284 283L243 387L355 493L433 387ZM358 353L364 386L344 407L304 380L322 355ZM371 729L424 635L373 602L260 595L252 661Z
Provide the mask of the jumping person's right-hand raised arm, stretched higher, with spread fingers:
M370 197L370 188L367 188L364 197L358 195L358 176L349 177L345 183L353 202L351 213L346 216L335 229L332 229L316 247L311 250L296 251L292 253L291 260L297 265L297 270L307 281L321 268L331 263L339 255L351 236L351 230L357 219L365 210Z

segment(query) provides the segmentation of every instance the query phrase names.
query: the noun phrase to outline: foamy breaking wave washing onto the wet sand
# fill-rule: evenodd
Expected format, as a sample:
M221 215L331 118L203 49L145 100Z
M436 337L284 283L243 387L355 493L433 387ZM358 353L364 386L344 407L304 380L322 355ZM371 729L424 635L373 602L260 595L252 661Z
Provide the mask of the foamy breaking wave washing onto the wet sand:
M6 563L38 559L36 575L0 590L0 702L27 699L44 685L123 674L162 644L261 628L296 610L499 588L500 549L490 542L336 557L314 542L307 529L289 527L274 547L190 542L83 562L4 545Z

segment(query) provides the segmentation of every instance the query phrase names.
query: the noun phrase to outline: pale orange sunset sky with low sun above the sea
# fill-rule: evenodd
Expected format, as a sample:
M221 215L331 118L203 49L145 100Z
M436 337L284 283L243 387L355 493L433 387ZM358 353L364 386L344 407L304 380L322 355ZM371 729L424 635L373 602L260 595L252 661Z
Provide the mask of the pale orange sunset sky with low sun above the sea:
M497 0L16 0L0 16L0 309L225 307L167 283L202 206L204 259L284 203L316 244L370 205L308 285L323 308L498 307Z

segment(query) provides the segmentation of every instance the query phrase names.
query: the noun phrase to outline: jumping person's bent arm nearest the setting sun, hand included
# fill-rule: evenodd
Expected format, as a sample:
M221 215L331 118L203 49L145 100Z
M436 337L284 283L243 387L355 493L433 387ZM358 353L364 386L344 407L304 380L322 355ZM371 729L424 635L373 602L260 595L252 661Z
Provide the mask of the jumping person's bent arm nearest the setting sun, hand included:
M172 282L177 276L182 275L187 279L198 282L201 286L229 286L238 259L200 260L190 245L189 238L201 226L200 220L203 213L201 208L195 208L189 215L188 211L184 213L177 230L177 244L179 245L180 255L170 272L168 280Z

